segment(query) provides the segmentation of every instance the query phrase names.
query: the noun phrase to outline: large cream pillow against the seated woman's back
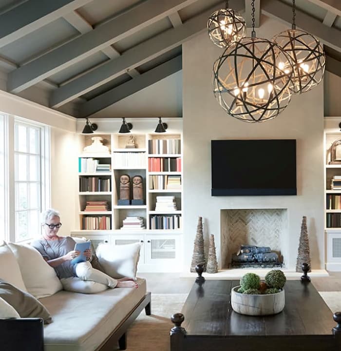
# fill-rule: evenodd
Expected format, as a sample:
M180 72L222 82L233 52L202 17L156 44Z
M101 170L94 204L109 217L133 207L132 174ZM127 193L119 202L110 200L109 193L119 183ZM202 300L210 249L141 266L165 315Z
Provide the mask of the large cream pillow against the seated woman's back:
M51 296L63 287L55 270L30 245L8 243L16 256L27 291L36 298Z

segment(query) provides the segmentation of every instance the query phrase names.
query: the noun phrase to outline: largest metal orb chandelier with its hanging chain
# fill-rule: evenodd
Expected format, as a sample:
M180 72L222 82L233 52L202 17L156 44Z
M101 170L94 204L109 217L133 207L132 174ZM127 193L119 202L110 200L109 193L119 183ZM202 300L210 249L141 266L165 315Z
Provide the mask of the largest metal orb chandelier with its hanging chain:
M212 86L215 98L229 115L246 122L263 122L278 116L290 102L293 67L279 45L256 38L254 0L251 3L251 38L231 43L214 62ZM279 69L279 62L287 68Z

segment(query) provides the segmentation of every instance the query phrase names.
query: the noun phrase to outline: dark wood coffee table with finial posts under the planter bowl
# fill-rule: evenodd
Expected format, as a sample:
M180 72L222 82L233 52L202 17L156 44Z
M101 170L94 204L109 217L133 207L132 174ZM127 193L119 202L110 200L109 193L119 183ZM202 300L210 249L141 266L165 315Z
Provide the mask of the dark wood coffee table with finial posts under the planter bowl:
M312 283L289 280L285 307L270 316L246 316L231 307L239 280L194 283L171 320L171 351L341 351L341 313L333 313Z

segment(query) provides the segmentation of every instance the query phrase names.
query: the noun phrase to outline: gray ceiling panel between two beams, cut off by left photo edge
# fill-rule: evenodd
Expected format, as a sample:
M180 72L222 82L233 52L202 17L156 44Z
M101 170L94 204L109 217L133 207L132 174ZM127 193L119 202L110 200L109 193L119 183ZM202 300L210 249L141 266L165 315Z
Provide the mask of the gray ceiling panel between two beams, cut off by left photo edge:
M22 65L77 35L79 32L60 18L3 46L0 48L0 56Z

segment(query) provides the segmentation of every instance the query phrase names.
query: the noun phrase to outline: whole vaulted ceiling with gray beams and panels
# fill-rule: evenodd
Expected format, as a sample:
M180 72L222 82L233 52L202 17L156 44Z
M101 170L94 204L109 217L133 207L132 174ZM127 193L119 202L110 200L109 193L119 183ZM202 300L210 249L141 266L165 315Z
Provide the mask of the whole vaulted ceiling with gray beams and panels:
M250 4L229 1L248 26ZM261 14L291 24L292 0L255 5L256 25ZM39 87L51 108L91 116L181 71L181 44L219 8L225 1L0 0L1 88L33 97ZM341 77L341 1L296 0L296 9L297 27L321 40L326 70Z

